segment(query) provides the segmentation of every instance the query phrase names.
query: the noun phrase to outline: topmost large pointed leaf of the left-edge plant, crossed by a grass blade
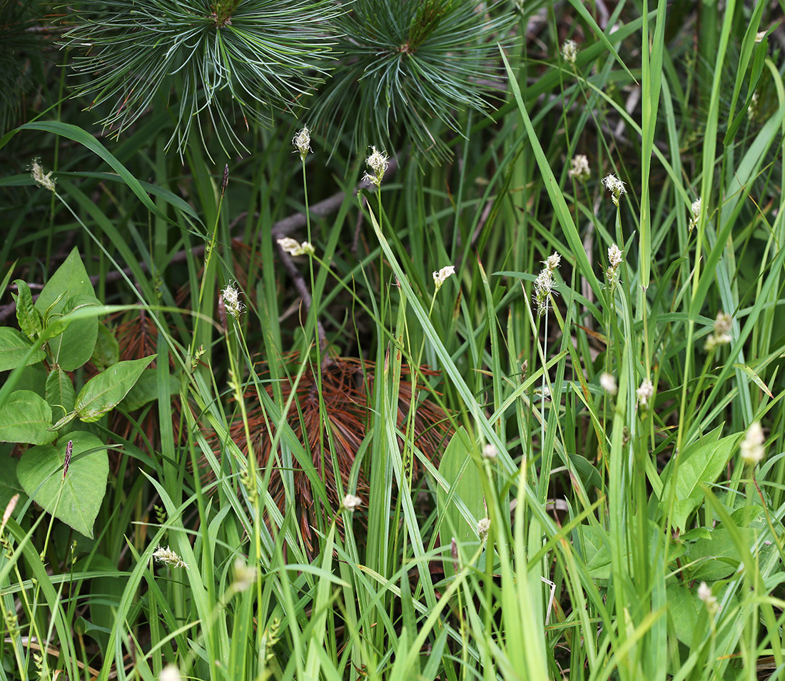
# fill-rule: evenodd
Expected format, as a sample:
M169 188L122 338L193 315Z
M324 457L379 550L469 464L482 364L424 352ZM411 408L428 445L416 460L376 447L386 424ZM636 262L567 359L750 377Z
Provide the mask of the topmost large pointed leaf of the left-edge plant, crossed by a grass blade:
M57 302L57 298L60 296L62 298ZM90 284L79 251L74 249L63 264L57 268L57 272L46 282L41 295L35 301L35 308L43 314L49 309L49 306L54 304L52 313L59 315L89 304L90 300L93 301L93 304L98 304L93 284ZM55 317L56 319L57 317ZM55 361L60 367L67 372L72 372L85 364L93 355L97 335L97 318L74 320L68 324L68 328L61 335L57 335L57 338L49 341L49 350L52 351Z

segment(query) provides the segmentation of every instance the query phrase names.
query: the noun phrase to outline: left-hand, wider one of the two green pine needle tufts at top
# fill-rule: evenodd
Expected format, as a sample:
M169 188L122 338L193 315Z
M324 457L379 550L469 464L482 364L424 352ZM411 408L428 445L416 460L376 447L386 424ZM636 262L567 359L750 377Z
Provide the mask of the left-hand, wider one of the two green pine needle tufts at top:
M182 152L192 126L243 148L238 131L301 107L321 82L330 49L329 0L78 0L65 44L90 79L76 94L111 106L102 123L122 133L166 93ZM87 48L85 50L85 48Z

